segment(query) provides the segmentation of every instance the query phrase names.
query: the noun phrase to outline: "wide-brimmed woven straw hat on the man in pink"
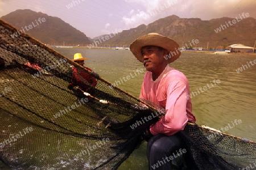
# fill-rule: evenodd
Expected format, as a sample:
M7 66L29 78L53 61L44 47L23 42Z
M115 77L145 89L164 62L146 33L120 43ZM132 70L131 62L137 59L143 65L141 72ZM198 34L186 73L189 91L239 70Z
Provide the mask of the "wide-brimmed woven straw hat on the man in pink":
M141 54L143 46L160 46L168 50L168 55L166 56L168 63L174 62L180 57L179 44L169 37L162 36L158 33L148 33L131 43L130 50L140 62L143 62L143 56Z

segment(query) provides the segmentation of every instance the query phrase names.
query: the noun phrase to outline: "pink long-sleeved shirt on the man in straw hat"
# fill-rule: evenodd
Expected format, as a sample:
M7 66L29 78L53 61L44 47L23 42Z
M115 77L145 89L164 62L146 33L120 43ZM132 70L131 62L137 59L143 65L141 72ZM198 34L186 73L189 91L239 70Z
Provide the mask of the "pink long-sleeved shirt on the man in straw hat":
M150 100L166 109L165 116L150 126L153 135L173 135L183 130L188 121L196 121L189 93L186 76L169 65L155 81L152 80L152 73L147 71L140 98Z

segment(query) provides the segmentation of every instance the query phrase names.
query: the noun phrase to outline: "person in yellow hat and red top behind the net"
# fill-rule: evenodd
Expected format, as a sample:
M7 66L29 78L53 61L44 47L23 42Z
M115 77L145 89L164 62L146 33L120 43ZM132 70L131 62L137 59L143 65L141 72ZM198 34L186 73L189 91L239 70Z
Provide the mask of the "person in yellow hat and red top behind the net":
M72 61L84 66L84 61L86 59L87 58L82 57L81 53L76 53ZM72 66L72 81L69 83L68 88L72 89L73 87L78 86L84 92L92 94L93 88L97 85L96 78L99 78L100 76L89 67L85 67L85 69L91 71L92 75L79 67Z

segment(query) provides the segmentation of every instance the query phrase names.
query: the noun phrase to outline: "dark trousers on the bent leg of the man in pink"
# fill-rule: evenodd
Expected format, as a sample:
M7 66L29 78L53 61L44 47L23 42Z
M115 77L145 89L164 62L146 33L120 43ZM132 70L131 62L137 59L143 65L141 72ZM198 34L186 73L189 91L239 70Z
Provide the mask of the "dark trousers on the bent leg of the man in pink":
M170 136L154 135L147 143L148 168L171 169L171 161L184 156L185 148L185 143L179 137L179 133Z

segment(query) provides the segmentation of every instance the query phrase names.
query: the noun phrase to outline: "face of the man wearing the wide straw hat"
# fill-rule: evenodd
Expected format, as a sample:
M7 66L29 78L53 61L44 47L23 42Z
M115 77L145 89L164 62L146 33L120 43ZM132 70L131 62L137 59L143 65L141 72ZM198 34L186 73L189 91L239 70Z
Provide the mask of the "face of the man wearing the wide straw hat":
M143 65L147 71L160 69L160 67L166 66L166 63L168 63L164 58L167 55L167 50L161 49L158 46L143 46L141 54L144 58Z

